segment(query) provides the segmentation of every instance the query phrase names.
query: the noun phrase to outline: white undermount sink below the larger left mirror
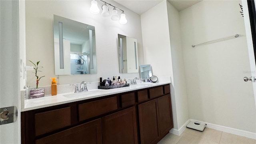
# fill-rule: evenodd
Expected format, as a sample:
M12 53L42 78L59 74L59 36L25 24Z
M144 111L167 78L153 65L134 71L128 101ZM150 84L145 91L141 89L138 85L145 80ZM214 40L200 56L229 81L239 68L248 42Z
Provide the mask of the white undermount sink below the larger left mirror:
M108 94L110 92L111 92L110 90L95 89L95 90L88 90L87 92L64 94L63 96L66 98L86 98L86 97L90 97L90 96L98 96L98 95L102 95L102 94Z

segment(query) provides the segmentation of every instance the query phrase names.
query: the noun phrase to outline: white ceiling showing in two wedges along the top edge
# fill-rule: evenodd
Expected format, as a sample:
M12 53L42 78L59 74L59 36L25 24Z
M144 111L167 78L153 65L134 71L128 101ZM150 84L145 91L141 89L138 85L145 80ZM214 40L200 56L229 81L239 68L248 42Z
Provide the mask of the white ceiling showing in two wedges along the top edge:
M164 0L114 0L141 15ZM184 10L202 0L168 0L178 11Z

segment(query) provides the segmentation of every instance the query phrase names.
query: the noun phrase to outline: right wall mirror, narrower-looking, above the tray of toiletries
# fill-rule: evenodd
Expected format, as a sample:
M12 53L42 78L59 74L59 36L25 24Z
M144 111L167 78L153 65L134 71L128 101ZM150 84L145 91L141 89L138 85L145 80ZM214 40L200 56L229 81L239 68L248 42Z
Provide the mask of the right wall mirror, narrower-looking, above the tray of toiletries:
M118 34L119 72L136 73L138 70L137 39Z

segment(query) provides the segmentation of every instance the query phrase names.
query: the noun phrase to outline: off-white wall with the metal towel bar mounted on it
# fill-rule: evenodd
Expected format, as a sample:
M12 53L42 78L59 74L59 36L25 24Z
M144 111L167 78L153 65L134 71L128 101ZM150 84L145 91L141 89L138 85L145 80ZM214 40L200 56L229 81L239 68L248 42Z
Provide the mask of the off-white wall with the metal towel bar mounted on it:
M241 1L205 0L180 12L190 118L256 132L250 66ZM229 38L192 48L233 34Z

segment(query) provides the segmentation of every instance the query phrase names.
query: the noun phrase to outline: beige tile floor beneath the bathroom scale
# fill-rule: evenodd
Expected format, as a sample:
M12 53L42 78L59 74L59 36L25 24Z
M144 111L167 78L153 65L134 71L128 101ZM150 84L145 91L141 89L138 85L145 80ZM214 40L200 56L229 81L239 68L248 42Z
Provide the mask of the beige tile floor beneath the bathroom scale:
M167 134L158 144L256 144L256 140L211 128L203 132L186 128L180 136Z

